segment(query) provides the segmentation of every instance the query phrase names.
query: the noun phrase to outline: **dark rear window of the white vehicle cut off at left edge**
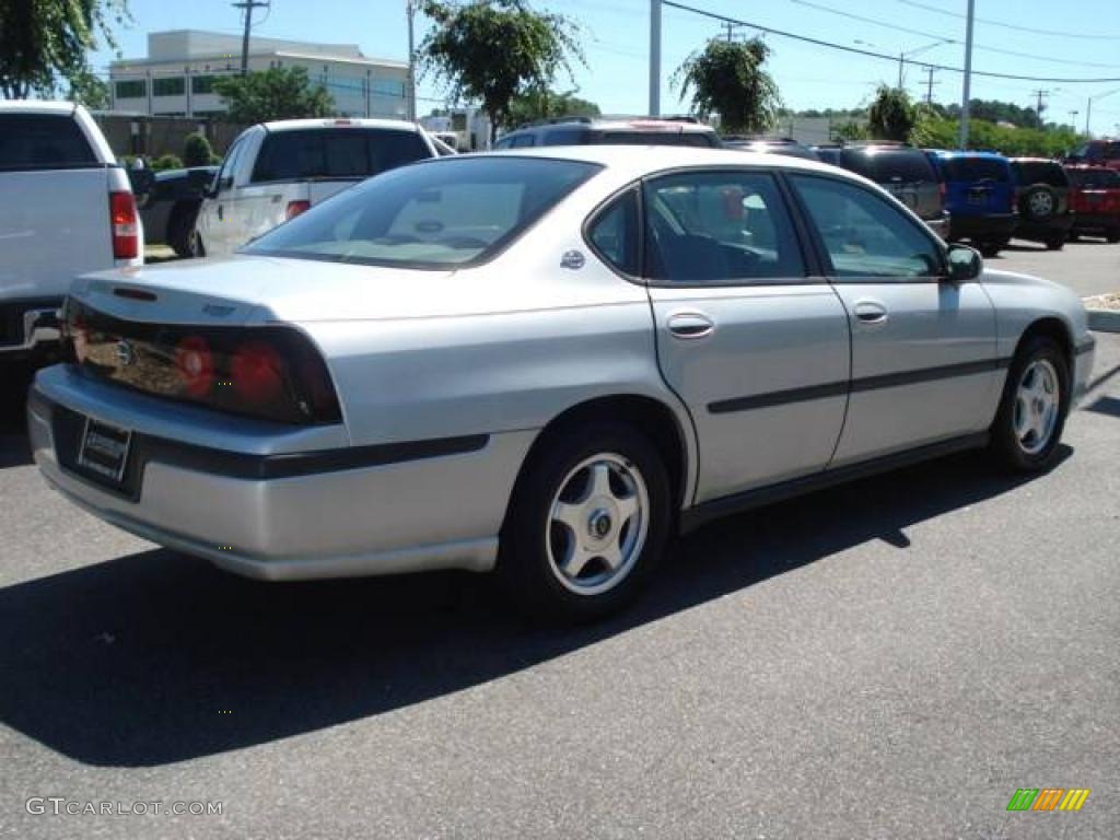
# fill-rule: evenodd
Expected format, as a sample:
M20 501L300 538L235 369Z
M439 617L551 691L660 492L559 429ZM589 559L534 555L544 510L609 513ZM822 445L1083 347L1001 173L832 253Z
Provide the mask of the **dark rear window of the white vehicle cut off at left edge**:
M69 115L0 115L0 170L96 165L90 141Z

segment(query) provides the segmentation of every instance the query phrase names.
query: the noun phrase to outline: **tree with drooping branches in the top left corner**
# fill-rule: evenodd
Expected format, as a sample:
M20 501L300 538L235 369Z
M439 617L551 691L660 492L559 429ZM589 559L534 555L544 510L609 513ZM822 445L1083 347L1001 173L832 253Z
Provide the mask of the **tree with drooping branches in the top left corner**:
M116 48L110 26L128 20L127 0L0 0L0 94L55 95L59 80L88 74L99 36Z

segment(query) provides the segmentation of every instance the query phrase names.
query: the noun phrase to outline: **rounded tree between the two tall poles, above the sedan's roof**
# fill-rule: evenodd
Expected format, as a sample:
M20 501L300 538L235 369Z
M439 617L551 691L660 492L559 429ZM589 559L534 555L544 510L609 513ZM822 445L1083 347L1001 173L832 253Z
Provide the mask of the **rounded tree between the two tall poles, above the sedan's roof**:
M713 38L690 55L673 74L681 96L691 96L692 113L702 119L719 113L725 133L765 131L777 119L782 99L777 83L763 65L769 47L760 38L727 41Z

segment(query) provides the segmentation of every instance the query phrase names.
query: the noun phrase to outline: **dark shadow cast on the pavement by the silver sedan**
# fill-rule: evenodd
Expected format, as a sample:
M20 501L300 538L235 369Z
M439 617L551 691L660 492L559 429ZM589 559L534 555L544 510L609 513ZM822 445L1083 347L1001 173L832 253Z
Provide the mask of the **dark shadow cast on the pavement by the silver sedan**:
M252 747L501 679L872 540L905 551L911 525L1025 480L967 454L728 519L679 540L628 612L576 628L526 624L467 573L262 584L162 549L80 566L0 589L0 722L90 765Z

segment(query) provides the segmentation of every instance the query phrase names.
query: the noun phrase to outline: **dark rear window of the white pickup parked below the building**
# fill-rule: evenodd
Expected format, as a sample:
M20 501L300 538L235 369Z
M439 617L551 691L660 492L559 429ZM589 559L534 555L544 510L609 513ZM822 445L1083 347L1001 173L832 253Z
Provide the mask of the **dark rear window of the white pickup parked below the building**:
M368 178L431 152L419 133L392 129L278 131L264 139L253 181Z

